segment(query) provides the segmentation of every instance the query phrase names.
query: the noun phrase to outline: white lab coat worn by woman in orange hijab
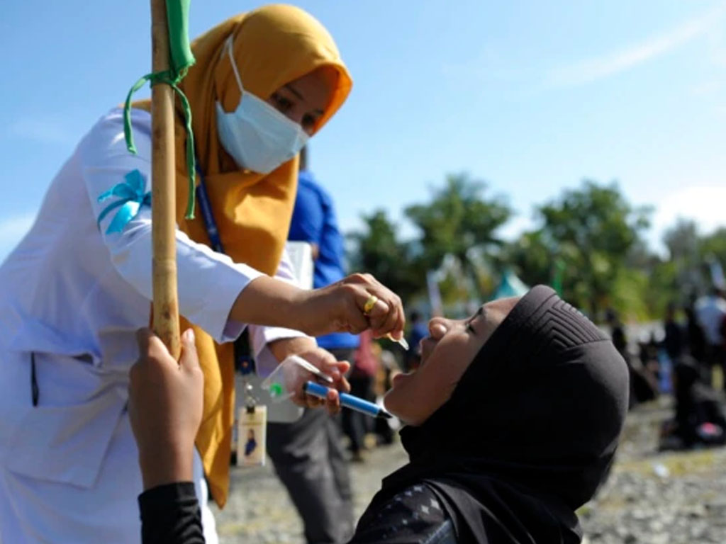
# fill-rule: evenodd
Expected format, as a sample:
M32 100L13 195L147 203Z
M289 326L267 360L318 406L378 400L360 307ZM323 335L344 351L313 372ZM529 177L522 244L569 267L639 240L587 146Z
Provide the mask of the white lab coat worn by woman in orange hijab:
M133 543L142 490L126 400L136 329L150 316L150 209L117 234L97 218L98 197L139 170L150 190L150 115L132 114L137 155L123 140L121 110L101 118L52 181L36 222L0 266L0 541ZM41 157L38 157L40 160ZM218 342L237 295L260 275L177 231L179 310ZM293 281L283 259L277 277ZM250 326L264 345L299 335ZM30 358L39 402L33 407ZM197 495L208 543L216 542L198 456Z

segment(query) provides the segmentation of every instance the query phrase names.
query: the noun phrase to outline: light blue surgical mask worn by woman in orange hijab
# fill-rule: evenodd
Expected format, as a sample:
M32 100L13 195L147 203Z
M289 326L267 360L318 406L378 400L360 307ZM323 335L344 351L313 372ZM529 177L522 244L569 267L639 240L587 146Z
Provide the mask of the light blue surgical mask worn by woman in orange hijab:
M295 157L308 135L301 125L245 91L232 57L232 36L227 39L227 53L242 96L234 112L225 112L216 103L219 141L240 168L268 174Z

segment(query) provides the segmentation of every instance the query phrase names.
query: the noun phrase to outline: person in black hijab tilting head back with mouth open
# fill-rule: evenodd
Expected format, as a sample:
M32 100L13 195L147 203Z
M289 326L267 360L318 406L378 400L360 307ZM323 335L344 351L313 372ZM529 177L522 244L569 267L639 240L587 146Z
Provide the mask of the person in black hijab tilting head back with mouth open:
M628 371L549 287L434 318L386 407L410 462L383 480L352 543L579 543L576 508L613 460Z

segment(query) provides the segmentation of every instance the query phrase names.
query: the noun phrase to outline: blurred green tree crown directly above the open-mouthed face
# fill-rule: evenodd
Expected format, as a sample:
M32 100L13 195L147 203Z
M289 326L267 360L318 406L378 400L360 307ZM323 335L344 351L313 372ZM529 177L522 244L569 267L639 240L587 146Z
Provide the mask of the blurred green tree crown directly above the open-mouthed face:
M485 199L484 189L483 182L467 174L449 175L444 187L433 192L431 202L406 208L407 217L420 232L416 255L420 267L437 269L444 257L451 255L465 279L477 289L473 254L502 244L496 231L511 215L502 199Z

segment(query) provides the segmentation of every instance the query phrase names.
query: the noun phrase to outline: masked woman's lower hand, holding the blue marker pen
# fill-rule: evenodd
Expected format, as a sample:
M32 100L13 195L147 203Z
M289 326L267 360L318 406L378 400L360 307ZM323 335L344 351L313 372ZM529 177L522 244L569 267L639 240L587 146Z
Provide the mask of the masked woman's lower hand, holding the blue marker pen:
M325 408L330 414L340 412L340 397L338 397L338 391L347 393L351 390L351 385L348 384L348 380L343 376L351 368L347 360L335 359L332 353L322 349L322 347L317 347L315 342L310 338L296 337L275 340L274 342L270 342L267 347L280 362L290 355L298 355L298 357L307 360L333 379L332 384L320 382L317 376L311 372L301 370L295 376L294 382L288 386L294 391L293 397L290 398L293 403L305 406L306 408L318 408L319 406L325 405ZM326 387L329 387L330 391L327 394L327 398L323 400L304 393L303 385L307 381L320 382L325 384Z

